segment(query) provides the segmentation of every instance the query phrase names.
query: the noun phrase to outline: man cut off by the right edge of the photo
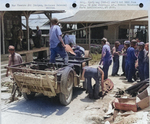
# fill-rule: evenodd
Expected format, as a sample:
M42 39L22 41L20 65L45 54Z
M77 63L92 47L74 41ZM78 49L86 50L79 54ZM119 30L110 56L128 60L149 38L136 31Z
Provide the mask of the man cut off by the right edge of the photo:
M149 78L149 43L145 44L145 56L144 56L144 79Z

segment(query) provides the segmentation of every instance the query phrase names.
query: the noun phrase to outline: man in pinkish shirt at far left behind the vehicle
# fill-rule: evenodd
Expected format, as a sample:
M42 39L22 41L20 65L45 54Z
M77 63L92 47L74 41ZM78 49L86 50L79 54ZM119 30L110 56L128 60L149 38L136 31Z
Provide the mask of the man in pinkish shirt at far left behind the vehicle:
M14 46L10 45L8 48L8 52L10 53L8 66L22 63L22 57L20 56L20 54L15 53L15 47ZM7 68L6 77L8 76L8 71L9 71L9 69Z

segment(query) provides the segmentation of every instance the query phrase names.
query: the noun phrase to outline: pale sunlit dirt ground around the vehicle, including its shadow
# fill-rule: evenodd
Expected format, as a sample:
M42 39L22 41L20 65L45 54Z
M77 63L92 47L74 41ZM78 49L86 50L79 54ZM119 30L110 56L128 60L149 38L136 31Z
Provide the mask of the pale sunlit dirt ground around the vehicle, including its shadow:
M97 67L98 63L92 65ZM128 83L121 76L110 76L112 65L109 69L109 79L114 83L114 88L103 99L89 99L85 91L74 88L72 102L62 106L57 98L49 99L42 95L36 96L32 101L23 97L8 103L10 93L1 93L1 123L2 124L149 124L150 108L138 112L129 112L126 115L118 113L117 117L109 122L104 118L109 110L109 103L115 99L118 88L125 90L134 83ZM120 67L119 74L122 73ZM94 82L94 81L93 81ZM5 86L6 87L6 86ZM4 87L2 87L5 90ZM128 116L127 116L128 115ZM112 116L111 116L112 117ZM148 123L149 122L149 123Z

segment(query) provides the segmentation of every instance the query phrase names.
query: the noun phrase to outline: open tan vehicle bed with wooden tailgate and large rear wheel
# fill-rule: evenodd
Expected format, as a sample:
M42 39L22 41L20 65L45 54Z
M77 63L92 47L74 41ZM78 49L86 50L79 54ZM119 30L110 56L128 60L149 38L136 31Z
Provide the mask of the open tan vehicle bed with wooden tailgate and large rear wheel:
M42 93L48 97L59 95L60 103L68 105L72 100L73 87L80 84L82 63L86 62L88 65L90 60L91 58L69 57L67 65L63 64L61 59L56 59L56 63L42 60L8 68L12 70L14 84L25 99L33 99L36 93Z

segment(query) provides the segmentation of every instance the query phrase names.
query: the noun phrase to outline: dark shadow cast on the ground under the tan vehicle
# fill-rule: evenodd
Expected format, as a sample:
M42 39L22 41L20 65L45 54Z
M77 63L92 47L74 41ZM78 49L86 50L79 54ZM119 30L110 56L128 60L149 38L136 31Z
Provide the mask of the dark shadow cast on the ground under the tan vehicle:
M82 88L74 88L73 99L81 93L83 93ZM57 116L63 115L68 109L69 106L63 106L60 104L58 96L48 98L47 96L38 94L32 100L25 100L23 98L20 101L11 103L3 108L2 111L46 118L52 114Z

